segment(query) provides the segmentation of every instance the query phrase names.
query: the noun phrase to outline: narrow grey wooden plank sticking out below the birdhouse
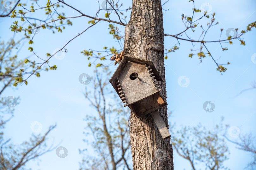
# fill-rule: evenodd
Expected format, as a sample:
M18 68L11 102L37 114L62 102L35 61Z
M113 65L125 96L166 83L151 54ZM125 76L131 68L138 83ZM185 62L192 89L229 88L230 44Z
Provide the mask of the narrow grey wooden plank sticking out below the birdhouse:
M155 124L156 124L160 134L162 135L162 138L167 139L167 138L171 137L171 134L170 134L169 130L167 129L167 127L163 121L163 118L161 117L158 110L155 110L155 112L153 112L151 114L151 116L153 117Z

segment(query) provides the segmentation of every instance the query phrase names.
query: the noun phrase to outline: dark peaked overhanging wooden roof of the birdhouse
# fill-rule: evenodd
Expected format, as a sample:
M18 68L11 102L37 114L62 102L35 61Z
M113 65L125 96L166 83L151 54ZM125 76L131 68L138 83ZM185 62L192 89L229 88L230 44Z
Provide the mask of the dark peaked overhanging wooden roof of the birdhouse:
M150 66L150 69L152 69L152 72L154 73L155 79L157 81L163 81L162 77L158 74L158 71L155 69L155 66L153 64L152 61L150 60L144 60L144 59L140 59L140 58L134 58L134 57L130 57L130 56L124 56L123 59L121 60L119 66L117 67L116 71L114 72L113 76L111 77L111 79L109 80L110 83L113 85L113 87L115 87L115 82L119 76L119 74L122 72L122 69L124 68L125 64L130 61L130 62L134 62L134 63L140 63L140 64L147 64L147 67Z

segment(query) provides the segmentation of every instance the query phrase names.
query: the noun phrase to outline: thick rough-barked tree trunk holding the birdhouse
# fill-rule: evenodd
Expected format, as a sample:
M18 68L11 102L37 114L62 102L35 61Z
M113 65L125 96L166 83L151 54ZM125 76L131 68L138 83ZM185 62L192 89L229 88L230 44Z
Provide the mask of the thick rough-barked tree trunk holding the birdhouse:
M159 82L166 97L163 15L161 0L133 0L131 19L125 28L126 55L152 60L163 82ZM168 127L167 107L159 112ZM173 149L170 139L163 140L154 120L146 115L130 117L131 153L134 170L173 170Z

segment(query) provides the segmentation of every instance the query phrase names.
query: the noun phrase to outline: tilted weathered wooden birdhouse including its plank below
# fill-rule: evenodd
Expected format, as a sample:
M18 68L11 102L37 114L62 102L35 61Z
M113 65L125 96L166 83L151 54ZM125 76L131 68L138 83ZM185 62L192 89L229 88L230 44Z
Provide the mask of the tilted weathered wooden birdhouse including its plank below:
M158 85L158 81L163 80L152 61L124 56L109 81L124 106L128 106L137 118L151 114L163 139L170 137L157 110L167 102Z

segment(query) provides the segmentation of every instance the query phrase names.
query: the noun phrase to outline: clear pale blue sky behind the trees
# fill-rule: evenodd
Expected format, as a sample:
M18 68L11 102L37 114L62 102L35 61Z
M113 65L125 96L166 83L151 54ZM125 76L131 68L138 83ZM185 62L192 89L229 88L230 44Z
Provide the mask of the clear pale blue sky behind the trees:
M81 9L86 14L94 15L98 8L97 1L86 1L84 3L72 3L76 8ZM162 2L163 3L163 2ZM256 2L247 1L196 1L196 8L201 8L204 3L209 3L208 9L212 8L212 13L216 12L218 25L209 30L205 40L218 40L220 29L223 28L222 39L226 38L225 32L229 28L245 29L248 23L256 20ZM131 6L131 1L127 6ZM84 8L86 7L86 8ZM90 7L90 8L88 8ZM184 30L181 21L181 14L191 14L192 3L186 1L168 1L163 6L164 32L176 34ZM205 7L207 9L207 7ZM65 16L74 16L69 8L65 8ZM88 26L87 18L74 19L73 26L67 26L63 33L53 35L49 30L40 30L35 36L33 48L41 56L47 52L53 53L56 48L61 48L67 41ZM0 32L2 40L8 40L13 34L9 30L12 24L8 18L1 18ZM33 133L31 124L35 121L42 125L41 133L46 132L48 127L57 123L57 127L49 135L49 142L54 140L57 145L67 148L68 155L65 158L56 156L55 151L40 157L40 164L29 162L27 167L34 169L78 169L82 160L78 149L90 148L82 139L86 122L83 118L87 114L94 114L93 108L89 107L88 101L84 98L85 85L78 81L82 73L93 76L94 68L88 67L87 57L80 53L83 49L102 49L104 46L117 46L111 35L108 35L107 22L100 22L98 25L77 37L66 48L67 53L63 59L52 58L51 63L56 64L55 71L41 72L41 77L32 76L28 80L28 85L19 85L17 88L9 88L4 91L3 96L20 96L20 104L15 107L15 117L6 125L5 137L12 138L14 144L20 144L27 140ZM123 26L119 26L124 30ZM197 28L196 35L202 30ZM18 36L21 36L18 35ZM221 75L216 71L216 65L210 57L203 59L199 64L196 56L189 58L191 53L191 43L180 41L180 49L168 55L165 60L166 86L168 110L173 114L169 117L169 122L179 126L196 126L202 123L209 129L220 121L224 116L224 123L240 129L240 135L252 133L255 136L256 120L256 91L246 91L235 97L242 90L250 88L250 83L256 80L256 64L252 61L252 56L256 53L256 30L248 32L244 38L246 46L241 46L238 40L234 40L232 45L224 44L229 50L222 52L219 43L207 44L208 49L219 63L230 62L228 70ZM171 37L165 37L165 48L171 48L177 41ZM25 58L30 55L25 44L21 50L20 57ZM114 71L116 66L111 66ZM185 80L178 82L180 76L186 76L189 80L187 87L179 84L187 83ZM92 87L92 83L86 85ZM113 96L109 96L110 98ZM205 112L203 104L205 101L212 101L215 104L213 112ZM35 123L34 123L35 124ZM171 134L172 135L172 134ZM231 136L230 136L231 138ZM236 138L231 138L236 139ZM235 145L228 143L230 149L229 160L225 166L230 169L243 169L247 162L253 160L253 155L235 149ZM89 155L94 155L91 149ZM178 156L174 151L175 169L189 170L189 163ZM203 167L201 167L203 168Z

